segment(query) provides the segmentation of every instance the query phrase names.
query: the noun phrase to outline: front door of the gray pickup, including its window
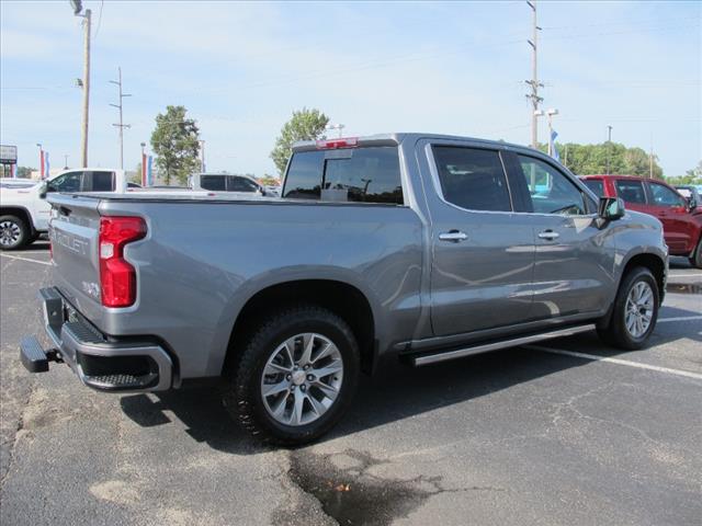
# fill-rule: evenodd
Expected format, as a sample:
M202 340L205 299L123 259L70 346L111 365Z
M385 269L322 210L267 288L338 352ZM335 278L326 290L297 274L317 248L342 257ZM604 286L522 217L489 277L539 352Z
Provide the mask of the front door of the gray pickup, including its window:
M612 286L613 251L596 225L597 203L555 163L512 153L510 170L521 183L534 232L534 297L537 319L601 311Z

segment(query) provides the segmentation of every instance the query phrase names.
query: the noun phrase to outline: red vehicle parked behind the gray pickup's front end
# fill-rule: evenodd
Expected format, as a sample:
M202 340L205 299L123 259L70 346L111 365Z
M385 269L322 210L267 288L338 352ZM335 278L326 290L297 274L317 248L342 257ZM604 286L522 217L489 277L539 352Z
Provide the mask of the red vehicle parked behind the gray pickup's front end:
M582 175L598 196L621 197L626 208L657 217L663 222L670 255L689 258L702 268L702 209L659 180L633 175Z

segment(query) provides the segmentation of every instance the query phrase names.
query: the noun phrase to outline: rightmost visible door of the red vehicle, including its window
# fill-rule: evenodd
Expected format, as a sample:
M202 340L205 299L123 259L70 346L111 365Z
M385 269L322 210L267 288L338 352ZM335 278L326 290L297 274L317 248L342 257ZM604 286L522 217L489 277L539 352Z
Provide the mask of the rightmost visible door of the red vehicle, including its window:
M694 248L695 225L684 198L668 186L647 181L648 206L663 222L666 244L672 253L691 252Z

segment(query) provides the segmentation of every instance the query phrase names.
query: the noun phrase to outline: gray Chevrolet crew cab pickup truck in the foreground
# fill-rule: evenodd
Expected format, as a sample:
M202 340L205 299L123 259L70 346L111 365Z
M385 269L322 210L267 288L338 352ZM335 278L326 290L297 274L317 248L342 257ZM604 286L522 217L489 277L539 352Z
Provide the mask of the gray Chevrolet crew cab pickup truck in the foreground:
M668 268L660 222L551 158L421 134L297 144L281 198L53 195L48 348L102 391L217 381L280 444L326 433L361 371L597 330L638 348Z

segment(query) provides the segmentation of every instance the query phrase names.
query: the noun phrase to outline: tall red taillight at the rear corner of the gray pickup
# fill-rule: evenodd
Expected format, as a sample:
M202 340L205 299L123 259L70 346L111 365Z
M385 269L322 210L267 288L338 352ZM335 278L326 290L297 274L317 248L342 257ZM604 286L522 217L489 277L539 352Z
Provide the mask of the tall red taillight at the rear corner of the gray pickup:
M136 272L124 260L124 245L146 236L140 217L100 218L100 288L105 307L128 307L136 301Z

